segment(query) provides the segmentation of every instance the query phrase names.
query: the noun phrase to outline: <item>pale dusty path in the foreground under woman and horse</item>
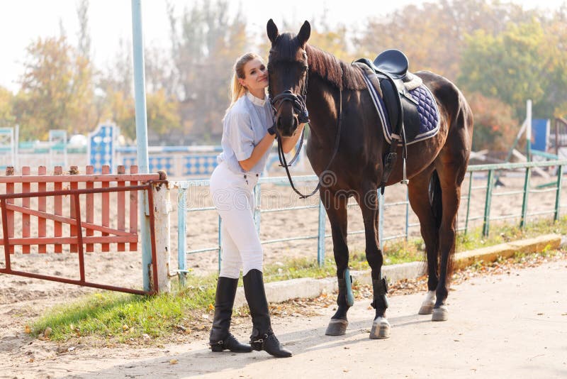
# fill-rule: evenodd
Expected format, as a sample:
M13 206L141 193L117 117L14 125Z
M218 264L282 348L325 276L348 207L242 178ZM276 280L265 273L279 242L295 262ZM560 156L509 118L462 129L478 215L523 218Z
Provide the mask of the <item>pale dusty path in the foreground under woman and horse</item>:
M272 304L274 330L293 351L288 359L211 353L208 328L172 336L163 346L96 346L88 339L55 344L31 339L15 317L16 324L0 331L0 378L291 378L298 372L305 378L565 378L566 268L563 252L459 271L447 322L416 314L425 278L395 283L387 340L368 338L374 315L369 286L354 286L344 336L324 335L334 295ZM16 313L42 302L27 304L17 304ZM237 338L245 341L249 329L249 317L235 317Z

